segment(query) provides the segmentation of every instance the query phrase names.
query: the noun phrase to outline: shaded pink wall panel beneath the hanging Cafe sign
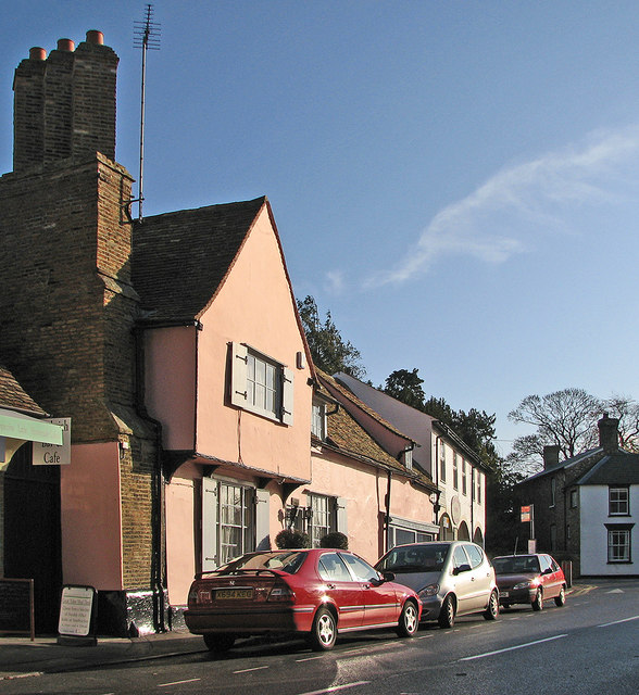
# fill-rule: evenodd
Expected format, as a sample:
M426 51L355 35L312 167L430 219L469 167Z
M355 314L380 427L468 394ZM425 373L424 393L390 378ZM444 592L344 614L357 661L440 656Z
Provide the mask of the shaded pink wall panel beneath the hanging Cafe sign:
M60 469L62 581L120 591L122 514L117 442L74 444Z

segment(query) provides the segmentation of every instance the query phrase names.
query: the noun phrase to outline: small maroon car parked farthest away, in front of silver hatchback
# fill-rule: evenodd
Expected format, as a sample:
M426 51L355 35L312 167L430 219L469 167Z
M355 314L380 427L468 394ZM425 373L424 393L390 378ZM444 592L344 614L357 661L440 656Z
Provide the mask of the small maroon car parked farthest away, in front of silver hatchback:
M499 603L529 604L541 610L547 598L557 606L566 603L566 580L562 568L550 555L503 555L492 558L499 587Z

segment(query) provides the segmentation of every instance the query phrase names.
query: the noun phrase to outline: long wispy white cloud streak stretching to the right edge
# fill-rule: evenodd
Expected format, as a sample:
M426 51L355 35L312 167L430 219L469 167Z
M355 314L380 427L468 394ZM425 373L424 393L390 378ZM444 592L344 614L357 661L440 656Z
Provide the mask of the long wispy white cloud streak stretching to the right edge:
M504 263L534 249L542 232L571 232L577 210L626 199L639 184L628 164L638 160L639 126L632 126L504 168L439 211L403 260L365 285L405 282L444 255Z

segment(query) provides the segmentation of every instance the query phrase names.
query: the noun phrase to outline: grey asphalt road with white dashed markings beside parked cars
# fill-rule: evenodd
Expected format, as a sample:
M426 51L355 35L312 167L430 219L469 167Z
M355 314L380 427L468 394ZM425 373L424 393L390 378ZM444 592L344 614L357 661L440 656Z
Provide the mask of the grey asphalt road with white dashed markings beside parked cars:
M413 640L360 633L333 652L303 642L201 653L2 683L11 694L483 695L639 693L639 580L568 596L563 608L515 607L497 621L423 626Z

